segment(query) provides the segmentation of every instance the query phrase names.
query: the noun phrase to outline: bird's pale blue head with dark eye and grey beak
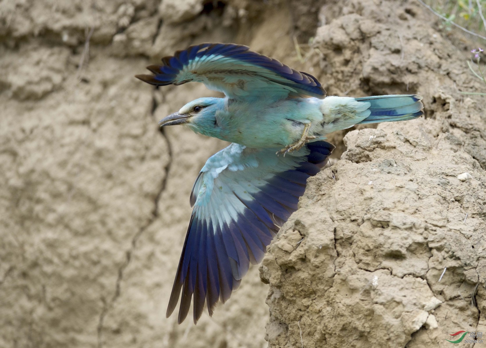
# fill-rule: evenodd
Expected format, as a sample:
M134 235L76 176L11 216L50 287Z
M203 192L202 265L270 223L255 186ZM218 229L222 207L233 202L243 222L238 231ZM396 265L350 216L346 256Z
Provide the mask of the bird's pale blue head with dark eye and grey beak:
M214 136L217 132L218 122L216 112L223 110L225 100L222 98L199 98L184 105L178 112L162 118L160 127L185 124L192 131Z

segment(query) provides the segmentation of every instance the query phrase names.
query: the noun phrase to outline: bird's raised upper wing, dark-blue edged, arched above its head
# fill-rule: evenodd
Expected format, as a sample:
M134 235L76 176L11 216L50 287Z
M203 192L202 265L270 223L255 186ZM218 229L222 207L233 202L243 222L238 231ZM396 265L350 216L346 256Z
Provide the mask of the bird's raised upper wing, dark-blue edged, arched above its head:
M202 82L231 99L307 95L324 98L315 77L278 60L250 51L247 46L205 43L162 58L163 65L147 66L155 75L136 77L155 85Z

